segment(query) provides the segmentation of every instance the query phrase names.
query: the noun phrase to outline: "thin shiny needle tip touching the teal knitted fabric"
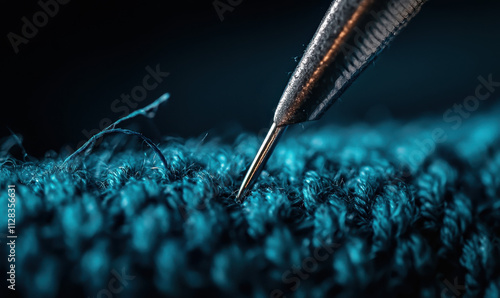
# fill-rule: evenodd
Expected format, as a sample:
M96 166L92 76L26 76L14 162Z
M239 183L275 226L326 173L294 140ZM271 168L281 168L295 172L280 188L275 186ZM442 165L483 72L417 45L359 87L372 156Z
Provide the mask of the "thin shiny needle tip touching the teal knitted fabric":
M271 156L271 153L273 152L277 141L285 132L286 128L287 126L277 126L276 123L273 123L273 125L269 129L269 132L267 133L266 138L264 139L264 142L260 146L259 152L257 152L252 165L248 169L245 179L243 179L243 183L241 184L238 195L236 196L237 201L242 202L245 191L255 183L255 180L257 180L257 178L259 177L262 168L269 159L269 156Z

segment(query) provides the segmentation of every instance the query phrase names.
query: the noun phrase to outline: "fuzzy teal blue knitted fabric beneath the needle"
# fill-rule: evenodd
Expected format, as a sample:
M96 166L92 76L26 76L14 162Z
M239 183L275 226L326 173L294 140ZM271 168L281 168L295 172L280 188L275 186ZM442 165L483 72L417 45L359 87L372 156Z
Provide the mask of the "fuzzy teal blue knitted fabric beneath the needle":
M16 293L499 297L499 113L459 127L436 116L297 128L242 204L262 141L252 134L165 138L166 169L130 136L64 167L63 156L4 153L2 197L17 190Z

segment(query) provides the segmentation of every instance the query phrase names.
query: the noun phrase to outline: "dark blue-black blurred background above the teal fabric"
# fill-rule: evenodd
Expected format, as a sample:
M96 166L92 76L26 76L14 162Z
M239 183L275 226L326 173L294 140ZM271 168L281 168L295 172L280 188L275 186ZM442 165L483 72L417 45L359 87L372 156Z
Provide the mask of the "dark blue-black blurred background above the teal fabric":
M312 125L440 117L474 93L479 75L500 80L499 2L430 0ZM329 3L243 0L221 21L212 0L72 0L15 54L8 32L21 34L21 18L40 6L4 2L0 137L21 134L34 156L75 148L87 139L82 130L118 119L113 100L157 64L170 75L140 106L165 92L171 99L137 129L156 141L235 128L262 134Z

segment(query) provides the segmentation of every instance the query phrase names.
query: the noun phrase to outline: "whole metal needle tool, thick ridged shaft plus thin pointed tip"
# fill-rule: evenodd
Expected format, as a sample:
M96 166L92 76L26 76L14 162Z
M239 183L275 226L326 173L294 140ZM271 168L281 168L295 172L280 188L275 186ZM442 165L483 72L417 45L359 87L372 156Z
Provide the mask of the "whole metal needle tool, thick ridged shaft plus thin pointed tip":
M319 119L425 2L334 0L281 96L273 130ZM273 146L266 141L243 180L239 200L272 153L276 139Z

